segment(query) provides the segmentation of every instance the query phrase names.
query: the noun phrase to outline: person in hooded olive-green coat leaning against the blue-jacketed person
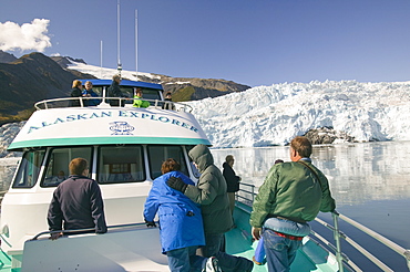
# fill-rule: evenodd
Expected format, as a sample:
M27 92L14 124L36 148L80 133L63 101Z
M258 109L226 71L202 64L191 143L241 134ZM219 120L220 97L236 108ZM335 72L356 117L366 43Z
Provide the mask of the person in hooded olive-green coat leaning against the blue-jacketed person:
M186 185L180 178L171 177L167 185L182 191L191 200L201 205L205 231L203 257L216 257L224 272L250 272L254 263L242 257L222 252L224 233L233 228L226 181L214 165L214 157L205 145L196 145L188 153L189 158L201 172L196 186Z

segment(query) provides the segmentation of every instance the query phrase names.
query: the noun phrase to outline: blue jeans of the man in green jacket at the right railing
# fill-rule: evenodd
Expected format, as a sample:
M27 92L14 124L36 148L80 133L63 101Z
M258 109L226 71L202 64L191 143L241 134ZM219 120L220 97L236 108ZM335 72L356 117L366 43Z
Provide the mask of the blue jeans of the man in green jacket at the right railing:
M301 241L279 237L275 231L269 229L264 229L262 236L264 238L268 271L290 271L290 264L295 260L296 252L300 248Z

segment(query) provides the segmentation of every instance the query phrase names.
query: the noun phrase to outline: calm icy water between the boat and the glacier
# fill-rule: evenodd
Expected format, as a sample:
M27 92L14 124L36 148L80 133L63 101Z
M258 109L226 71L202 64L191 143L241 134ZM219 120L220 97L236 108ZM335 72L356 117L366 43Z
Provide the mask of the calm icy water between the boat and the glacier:
M276 159L289 160L288 147L212 149L212 153L221 169L226 155L234 155L236 174L243 182L257 187ZM340 213L410 249L409 154L410 142L385 142L315 146L311 158L328 177ZM319 218L331 222L329 213L319 213ZM362 240L360 244L370 248L393 271L408 271L404 258L347 223L340 222L340 227L350 238ZM331 234L325 237L332 240ZM345 242L342 248L363 271L380 271L358 254L350 255L352 250Z

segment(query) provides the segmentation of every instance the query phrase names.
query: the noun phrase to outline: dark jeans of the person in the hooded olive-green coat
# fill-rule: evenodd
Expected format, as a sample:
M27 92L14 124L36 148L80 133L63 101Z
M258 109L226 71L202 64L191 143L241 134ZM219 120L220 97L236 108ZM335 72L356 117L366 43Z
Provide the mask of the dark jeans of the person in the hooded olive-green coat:
M225 240L225 236L205 233L205 247L199 248L203 257L216 257L219 266L224 272L250 272L254 268L254 262L243 258L229 255L221 251L221 247Z

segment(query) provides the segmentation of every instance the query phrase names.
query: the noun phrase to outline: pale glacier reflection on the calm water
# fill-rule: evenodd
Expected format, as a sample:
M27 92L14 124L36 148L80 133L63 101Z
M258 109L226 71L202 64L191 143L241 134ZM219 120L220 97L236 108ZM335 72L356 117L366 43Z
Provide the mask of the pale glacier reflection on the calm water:
M213 149L222 168L235 156L244 182L260 186L276 159L289 160L289 147ZM410 142L315 146L312 163L328 177L338 207L368 200L410 199Z

